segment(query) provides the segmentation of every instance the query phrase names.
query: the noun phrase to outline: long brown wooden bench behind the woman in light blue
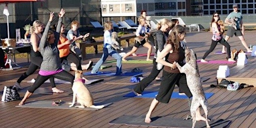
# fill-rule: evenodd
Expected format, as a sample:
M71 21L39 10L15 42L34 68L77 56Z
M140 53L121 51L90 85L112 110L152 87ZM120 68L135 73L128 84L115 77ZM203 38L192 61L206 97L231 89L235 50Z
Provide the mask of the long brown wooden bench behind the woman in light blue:
M129 39L130 38L134 38L136 37L136 35L134 33L131 33L131 34L125 34L121 37L119 37L119 40L118 42L120 43L121 40L125 40L126 43L125 43L125 47L128 47L129 46ZM97 45L100 45L100 44L103 44L103 39L100 39L100 40L96 40L96 42L77 42L76 45L81 49L81 52L82 52L82 57L85 58L86 56L86 51L85 51L85 47L88 47L88 46L93 46L94 47L94 51L95 51L95 54L98 53L98 48L97 48Z

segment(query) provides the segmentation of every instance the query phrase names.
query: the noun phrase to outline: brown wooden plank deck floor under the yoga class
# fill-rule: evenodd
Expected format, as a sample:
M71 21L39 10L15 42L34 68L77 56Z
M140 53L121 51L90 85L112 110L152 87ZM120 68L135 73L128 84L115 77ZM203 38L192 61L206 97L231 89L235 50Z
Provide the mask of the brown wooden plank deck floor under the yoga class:
M245 39L247 44L255 44L255 31L246 31ZM187 33L186 41L188 47L192 48L198 58L201 58L203 53L210 45L210 32ZM232 48L244 49L238 37L232 37L228 41ZM221 50L220 44L214 49ZM125 50L130 50L126 48ZM154 51L154 50L153 50ZM137 53L145 53L146 48L140 47ZM226 55L210 53L206 60L224 59ZM87 55L88 60L96 62L101 53ZM145 57L133 57L132 59L145 59ZM113 58L108 57L107 60ZM26 58L18 60L25 62ZM254 63L255 57L248 56L248 63ZM23 64L23 63L22 63ZM112 67L103 69L103 71L115 70L115 63ZM205 92L213 92L214 94L208 99L208 116L213 119L227 119L231 120L229 127L255 127L256 125L256 87L243 88L236 91L228 91L221 88L212 88L210 84L216 84L216 70L220 64L198 64L200 76L209 77L207 81L202 82ZM229 68L236 64L228 64ZM122 70L130 71L134 67L138 67L146 72L143 74L147 76L150 73L152 64L132 64L123 63ZM245 65L246 66L246 65ZM17 78L26 71L27 67L15 70L1 70L0 71L0 91L3 90L4 85L13 85ZM255 64L250 67L248 75L242 77L254 78ZM71 71L71 73L74 73ZM253 73L253 74L251 74ZM27 83L27 80L36 77L36 73L30 75L21 82L22 86L30 86L32 83ZM161 75L161 73L160 73ZM238 75L238 74L237 74ZM21 108L15 107L19 101L0 102L0 126L1 127L145 127L145 126L128 126L128 125L110 125L109 121L123 115L145 115L151 98L128 98L123 97L124 94L130 92L134 87L134 83L129 81L130 76L87 76L91 78L104 78L102 82L87 85L92 92L95 102L109 103L111 105L96 111L79 110L79 109L49 109L49 108ZM157 91L159 88L159 81L152 81L145 91ZM43 86L50 86L44 83ZM60 89L69 89L70 84L57 84ZM177 91L177 88L175 88ZM24 93L19 93L21 96ZM48 95L48 94L33 94L27 102L34 100L65 100L71 101L72 95ZM203 112L201 110L201 112ZM168 104L159 103L152 113L153 116L172 116L176 118L184 118L189 114L187 99L171 98Z

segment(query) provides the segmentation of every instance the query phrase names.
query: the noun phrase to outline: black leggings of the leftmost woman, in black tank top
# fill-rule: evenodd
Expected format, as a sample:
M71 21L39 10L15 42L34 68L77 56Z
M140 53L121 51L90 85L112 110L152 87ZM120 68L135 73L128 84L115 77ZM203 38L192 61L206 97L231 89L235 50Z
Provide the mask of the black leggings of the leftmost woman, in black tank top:
M41 66L42 63L42 56L31 56L30 55L31 63L28 66L28 69L26 72L24 72L17 80L18 83L20 83L22 80L24 80L26 77L28 77L30 74L33 74L34 71ZM54 82L54 77L49 77L51 87L56 87Z

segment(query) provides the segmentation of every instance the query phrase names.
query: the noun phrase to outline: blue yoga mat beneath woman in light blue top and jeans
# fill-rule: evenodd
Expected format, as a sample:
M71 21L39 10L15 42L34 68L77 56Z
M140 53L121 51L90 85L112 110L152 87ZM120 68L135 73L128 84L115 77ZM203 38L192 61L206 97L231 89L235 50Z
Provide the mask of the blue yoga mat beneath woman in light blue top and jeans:
M137 75L141 75L145 72L123 72L122 74L118 75L118 76L137 76ZM115 72L111 72L111 71L100 71L97 73L90 73L90 71L84 72L83 75L115 75ZM116 75L117 76L117 75Z

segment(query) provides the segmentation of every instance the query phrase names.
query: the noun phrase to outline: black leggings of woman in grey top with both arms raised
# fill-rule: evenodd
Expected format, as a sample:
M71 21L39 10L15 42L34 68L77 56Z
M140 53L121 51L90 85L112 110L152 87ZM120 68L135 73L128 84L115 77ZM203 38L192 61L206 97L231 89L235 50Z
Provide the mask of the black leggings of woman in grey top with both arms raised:
M28 91L33 93L35 89L40 87L40 85L50 77L55 77L55 78L58 78L61 80L69 81L69 82L71 82L71 86L73 85L74 76L72 74L68 73L67 71L62 70L62 71L60 71L56 74L52 74L52 75L43 76L43 75L38 74L33 85L28 88Z

